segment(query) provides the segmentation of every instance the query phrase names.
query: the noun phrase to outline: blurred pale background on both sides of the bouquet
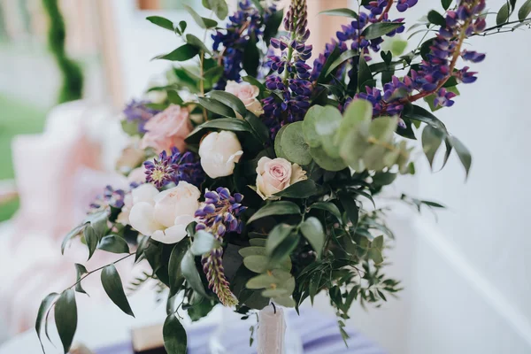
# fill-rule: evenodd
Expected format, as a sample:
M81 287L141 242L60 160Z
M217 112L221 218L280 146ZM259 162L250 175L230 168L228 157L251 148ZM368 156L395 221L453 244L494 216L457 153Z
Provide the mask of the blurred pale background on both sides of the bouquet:
M356 1L308 2L318 54L344 19L317 13ZM488 6L497 12L504 3ZM36 340L24 333L42 297L74 279L73 258L61 257L60 240L116 178L113 165L126 139L121 108L164 81L171 64L150 58L179 44L145 18L189 19L182 4L200 10L196 0L0 1L0 348L17 338ZM407 19L432 8L440 10L439 2L419 1ZM473 65L479 80L461 86L455 106L437 114L473 153L468 181L457 157L431 173L419 152L419 173L389 191L449 207L437 218L407 209L390 216L396 244L389 273L403 280L404 291L380 309L358 306L349 326L391 354L531 352L530 40L524 29L473 38L474 50L488 53ZM146 296L132 301L140 323L162 321L164 309ZM127 338L134 322L107 305L98 296L81 301L84 341ZM102 322L123 331L109 338L90 326L96 308ZM333 315L324 296L317 308Z

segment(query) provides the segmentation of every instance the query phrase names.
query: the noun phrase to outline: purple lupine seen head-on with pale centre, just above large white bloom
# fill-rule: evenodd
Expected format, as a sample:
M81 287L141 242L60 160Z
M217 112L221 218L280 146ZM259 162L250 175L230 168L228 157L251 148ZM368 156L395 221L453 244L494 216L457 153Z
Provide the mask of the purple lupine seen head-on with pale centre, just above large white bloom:
M162 151L153 161L144 162L146 181L153 183L158 189L168 183L178 184L187 181L196 187L204 182L204 171L200 162L193 153L181 153L177 148L172 148L172 153Z

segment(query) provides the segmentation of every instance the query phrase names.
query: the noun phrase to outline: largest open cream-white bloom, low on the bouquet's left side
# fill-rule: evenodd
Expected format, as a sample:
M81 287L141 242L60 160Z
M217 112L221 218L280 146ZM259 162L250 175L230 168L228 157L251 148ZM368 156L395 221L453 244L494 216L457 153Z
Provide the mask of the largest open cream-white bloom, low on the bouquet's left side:
M180 242L187 235L186 227L194 221L194 214L199 209L199 189L185 181L160 193L151 184L137 189L132 192L131 227L158 242Z

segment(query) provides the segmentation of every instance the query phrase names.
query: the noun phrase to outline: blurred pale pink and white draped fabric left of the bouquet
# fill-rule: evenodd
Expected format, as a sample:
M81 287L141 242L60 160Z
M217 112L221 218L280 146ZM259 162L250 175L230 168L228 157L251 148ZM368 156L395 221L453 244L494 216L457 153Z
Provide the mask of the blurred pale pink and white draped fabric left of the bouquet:
M0 316L13 334L35 325L44 296L73 284L73 263L90 270L120 257L96 252L86 263L88 251L79 240L61 256L64 235L81 222L104 186L127 187L125 177L102 171L101 143L88 133L90 112L83 102L58 106L41 135L18 136L12 144L20 209L11 229L0 231L3 241L7 238L0 248ZM124 281L131 263L119 266ZM104 295L99 274L83 281L83 287L93 301Z

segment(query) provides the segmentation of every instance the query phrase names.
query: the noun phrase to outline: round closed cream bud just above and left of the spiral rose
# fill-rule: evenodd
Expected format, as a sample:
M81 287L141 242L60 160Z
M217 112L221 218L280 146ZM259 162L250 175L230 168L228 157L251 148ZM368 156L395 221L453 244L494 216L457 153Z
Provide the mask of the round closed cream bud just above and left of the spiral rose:
M199 146L201 166L210 178L229 176L242 158L242 144L233 132L221 131L206 135Z

